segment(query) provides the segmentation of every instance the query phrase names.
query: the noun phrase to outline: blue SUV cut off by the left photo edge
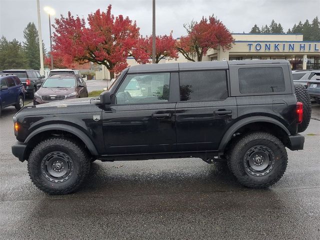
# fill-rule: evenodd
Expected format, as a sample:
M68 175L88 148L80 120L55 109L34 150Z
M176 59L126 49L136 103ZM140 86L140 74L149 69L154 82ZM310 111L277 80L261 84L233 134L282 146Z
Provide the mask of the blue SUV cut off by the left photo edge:
M20 79L11 73L0 73L0 116L7 106L20 110L24 106L24 86Z

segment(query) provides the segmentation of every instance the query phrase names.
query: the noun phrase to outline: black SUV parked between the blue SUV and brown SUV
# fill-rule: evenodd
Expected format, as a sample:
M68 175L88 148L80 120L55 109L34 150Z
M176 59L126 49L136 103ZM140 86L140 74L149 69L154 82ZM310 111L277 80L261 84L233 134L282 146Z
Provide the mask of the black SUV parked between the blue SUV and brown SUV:
M34 69L5 69L2 72L12 73L20 78L26 95L33 97L33 93L37 90L37 84L41 84L44 81L44 76L41 76L37 70Z

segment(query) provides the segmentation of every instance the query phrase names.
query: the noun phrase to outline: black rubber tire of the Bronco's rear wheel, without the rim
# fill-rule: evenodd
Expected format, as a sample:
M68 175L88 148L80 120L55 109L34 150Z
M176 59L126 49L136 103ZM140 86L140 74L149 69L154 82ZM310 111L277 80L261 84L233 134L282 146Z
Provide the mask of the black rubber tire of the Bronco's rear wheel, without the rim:
M271 159L274 164L264 175L248 173L245 155L255 146L264 146L273 153ZM250 188L265 188L282 177L287 165L287 153L283 143L274 135L267 132L252 132L234 142L227 155L227 163L230 171L242 185Z

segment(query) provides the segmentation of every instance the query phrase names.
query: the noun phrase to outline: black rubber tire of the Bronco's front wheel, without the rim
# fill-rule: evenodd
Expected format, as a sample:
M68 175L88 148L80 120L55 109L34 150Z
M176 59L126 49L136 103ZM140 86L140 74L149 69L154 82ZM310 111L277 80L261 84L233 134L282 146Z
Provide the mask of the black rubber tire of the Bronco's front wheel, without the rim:
M54 182L43 173L42 159L48 154L60 152L71 160L69 178ZM31 151L27 163L29 176L36 187L49 194L67 194L77 190L88 175L90 160L87 152L75 141L62 137L50 137L38 143Z

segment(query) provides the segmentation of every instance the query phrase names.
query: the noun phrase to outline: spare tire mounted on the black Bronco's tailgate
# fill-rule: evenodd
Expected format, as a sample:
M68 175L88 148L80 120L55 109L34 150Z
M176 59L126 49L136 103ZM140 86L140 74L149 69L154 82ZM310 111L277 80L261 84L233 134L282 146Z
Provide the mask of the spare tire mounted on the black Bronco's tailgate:
M298 124L298 132L302 132L308 127L311 118L311 100L305 86L294 84L294 91L296 100L302 102L303 107L302 122Z

